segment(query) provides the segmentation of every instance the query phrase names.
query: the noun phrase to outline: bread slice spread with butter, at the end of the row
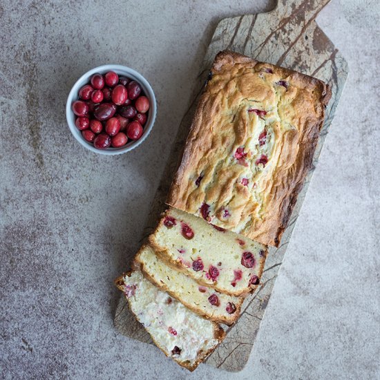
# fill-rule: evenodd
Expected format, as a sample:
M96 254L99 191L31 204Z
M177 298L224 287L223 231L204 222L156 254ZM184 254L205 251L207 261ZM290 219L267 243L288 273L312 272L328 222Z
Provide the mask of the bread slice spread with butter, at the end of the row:
M190 371L225 338L220 325L191 312L146 280L140 271L120 276L115 284L158 348Z

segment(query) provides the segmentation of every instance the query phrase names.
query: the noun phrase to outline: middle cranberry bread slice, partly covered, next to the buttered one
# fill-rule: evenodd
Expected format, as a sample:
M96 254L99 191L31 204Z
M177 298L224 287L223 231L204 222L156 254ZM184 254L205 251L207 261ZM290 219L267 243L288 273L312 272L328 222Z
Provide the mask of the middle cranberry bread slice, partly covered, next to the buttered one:
M193 312L205 318L231 325L240 314L243 297L229 296L215 289L199 285L193 278L169 267L156 256L150 245L143 246L137 253L134 266L141 270L155 286L176 298Z

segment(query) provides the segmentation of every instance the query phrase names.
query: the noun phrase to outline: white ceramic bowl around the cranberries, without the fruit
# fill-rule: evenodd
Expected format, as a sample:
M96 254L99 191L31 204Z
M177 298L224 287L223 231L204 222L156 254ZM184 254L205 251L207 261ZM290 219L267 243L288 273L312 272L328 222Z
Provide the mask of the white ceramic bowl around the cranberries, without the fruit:
M73 111L71 110L71 104L75 102L75 100L78 99L78 93L79 89L84 86L85 84L88 84L90 82L90 78L95 73L105 74L108 71L115 71L119 76L129 77L131 79L136 80L139 82L142 86L142 90L144 91L146 97L148 97L150 102L150 108L148 111L148 119L146 120L146 123L144 125L144 132L142 133L142 136L137 141L131 141L128 142L126 145L122 146L121 148L108 148L108 149L96 149L95 146L91 142L87 142L82 137L82 132L77 129L75 126L75 115ZM79 142L82 144L86 149L93 151L95 153L99 154L105 154L105 155L115 155L115 154L122 154L131 151L132 149L135 149L136 146L139 146L149 135L151 132L151 129L153 127L154 121L155 121L155 114L157 112L157 105L155 103L155 96L153 93L153 90L151 88L151 85L149 82L140 74L137 73L137 71L133 70L132 68L126 67L126 66L120 66L120 65L104 65L95 67L92 70L88 71L82 77L80 77L77 82L75 82L73 88L71 88L70 93L68 94L67 103L66 103L66 120L68 123L68 126L70 127L71 133L73 133L73 136Z

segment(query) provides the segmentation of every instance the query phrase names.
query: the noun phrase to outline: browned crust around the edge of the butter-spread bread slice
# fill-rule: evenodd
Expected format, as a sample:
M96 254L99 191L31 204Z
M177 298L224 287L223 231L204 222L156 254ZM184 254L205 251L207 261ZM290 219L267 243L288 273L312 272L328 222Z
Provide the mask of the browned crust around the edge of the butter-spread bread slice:
M116 285L117 289L120 289L123 293L124 293L124 287L123 287L123 285L124 285L124 276L129 276L130 277L131 274L132 274L132 272L126 272L122 276L119 276L119 277L115 278L115 285ZM127 303L128 303L129 310L131 311L131 313L135 316L135 318L138 321L137 315L131 309L130 303L129 302L127 302ZM203 352L202 350L200 350L200 352L198 352L198 357L197 357L196 361L194 361L193 363L191 363L191 361L179 361L178 358L169 357L169 355L167 354L167 352L165 352L165 350L158 344L158 342L155 341L154 336L152 334L150 334L148 330L146 330L146 331L151 336L151 339L152 339L153 343L155 343L155 345L158 348L160 348L160 350L162 352L164 352L164 354L167 357L169 357L170 359L173 359L179 365L181 365L181 367L187 368L187 370L189 370L189 371L192 372L193 370L195 370L198 367L198 365L200 365L200 363L202 363L202 361L204 361L209 356L209 354L211 354L211 352L213 352L213 350L215 350L218 347L218 345L220 344L220 342L223 339L225 339L226 333L222 329L222 327L220 327L220 325L218 325L215 322L211 322L211 323L213 324L213 337L214 337L214 339L218 340L218 344L215 345L210 350L207 350L207 352Z

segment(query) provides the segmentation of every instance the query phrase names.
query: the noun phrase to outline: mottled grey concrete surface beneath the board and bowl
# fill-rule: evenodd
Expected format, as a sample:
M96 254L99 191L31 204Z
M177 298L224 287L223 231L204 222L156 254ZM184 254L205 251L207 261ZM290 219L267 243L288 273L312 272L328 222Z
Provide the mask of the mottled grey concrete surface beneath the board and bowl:
M1 2L1 379L231 379L207 365L189 374L118 334L112 281L139 246L216 23L274 4ZM372 15L333 0L317 19L350 75L236 379L380 378L380 29ZM104 63L140 71L158 99L149 138L117 157L79 146L64 117L70 86Z

